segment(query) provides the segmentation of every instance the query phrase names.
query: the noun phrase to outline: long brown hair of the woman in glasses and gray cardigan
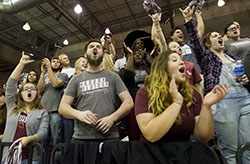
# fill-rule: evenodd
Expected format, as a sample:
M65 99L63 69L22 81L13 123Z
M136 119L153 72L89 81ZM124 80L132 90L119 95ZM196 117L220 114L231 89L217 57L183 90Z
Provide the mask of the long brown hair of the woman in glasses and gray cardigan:
M32 83L26 83L26 84L32 84ZM18 114L19 112L22 111L22 109L25 107L25 101L23 100L23 97L21 95L21 92L23 91L23 88L24 86L26 85L24 84L18 91L14 101L16 103L16 107L12 110L11 114L15 113L15 114ZM39 90L37 88L37 86L35 84L32 84L34 85L34 87L37 89L37 95L36 95L36 98L33 100L33 102L31 103L31 109L32 110L35 110L35 109L44 109L42 107L42 105L40 104L40 93L39 93Z

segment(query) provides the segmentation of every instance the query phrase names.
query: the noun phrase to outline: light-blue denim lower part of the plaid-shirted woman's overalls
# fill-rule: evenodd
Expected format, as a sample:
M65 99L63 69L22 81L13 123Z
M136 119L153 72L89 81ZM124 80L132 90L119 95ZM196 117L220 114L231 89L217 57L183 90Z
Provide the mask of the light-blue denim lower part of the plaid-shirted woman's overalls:
M250 95L247 90L243 88L236 93L229 90L216 109L213 108L213 117L220 151L227 164L235 164L238 147L250 142ZM250 163L249 151L244 153L243 163Z

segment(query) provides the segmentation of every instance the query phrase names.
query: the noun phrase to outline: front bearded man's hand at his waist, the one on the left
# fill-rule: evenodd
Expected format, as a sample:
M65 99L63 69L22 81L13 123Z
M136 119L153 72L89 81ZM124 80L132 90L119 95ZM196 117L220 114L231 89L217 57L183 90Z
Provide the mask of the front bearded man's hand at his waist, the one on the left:
M86 124L96 125L97 123L97 114L91 112L90 110L82 111L81 114L78 115L77 119Z

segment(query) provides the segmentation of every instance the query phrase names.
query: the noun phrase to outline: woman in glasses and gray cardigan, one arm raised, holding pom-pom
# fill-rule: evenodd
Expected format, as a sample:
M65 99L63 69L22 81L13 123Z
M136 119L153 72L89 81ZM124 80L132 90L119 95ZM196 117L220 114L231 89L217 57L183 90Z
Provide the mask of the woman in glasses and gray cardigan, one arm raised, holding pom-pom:
M49 113L40 104L38 88L33 83L25 83L17 93L17 82L23 68L33 62L29 56L22 53L22 57L10 75L6 86L7 122L2 142L22 143L23 163L28 163L29 148L31 142L43 141L48 136ZM3 149L2 161L5 159L7 147ZM38 163L38 155L34 151L33 164Z

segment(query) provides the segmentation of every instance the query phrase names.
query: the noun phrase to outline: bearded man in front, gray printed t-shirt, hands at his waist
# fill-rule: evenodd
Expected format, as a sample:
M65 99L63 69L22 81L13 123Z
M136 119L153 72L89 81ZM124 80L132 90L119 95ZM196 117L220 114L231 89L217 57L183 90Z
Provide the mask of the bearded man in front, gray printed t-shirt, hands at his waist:
M70 80L59 113L75 119L74 143L118 139L116 122L129 113L133 100L120 77L101 66L104 55L101 42L89 41L85 52L88 68ZM122 101L118 109L115 108L116 95ZM75 98L76 109L71 107Z

